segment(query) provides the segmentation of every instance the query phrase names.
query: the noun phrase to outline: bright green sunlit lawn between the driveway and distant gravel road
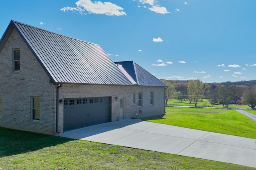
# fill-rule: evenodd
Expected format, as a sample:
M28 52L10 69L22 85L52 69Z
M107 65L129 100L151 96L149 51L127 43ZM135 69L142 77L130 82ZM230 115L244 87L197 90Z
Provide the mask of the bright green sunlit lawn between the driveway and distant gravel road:
M232 109L166 107L164 116L142 120L256 139L256 122Z

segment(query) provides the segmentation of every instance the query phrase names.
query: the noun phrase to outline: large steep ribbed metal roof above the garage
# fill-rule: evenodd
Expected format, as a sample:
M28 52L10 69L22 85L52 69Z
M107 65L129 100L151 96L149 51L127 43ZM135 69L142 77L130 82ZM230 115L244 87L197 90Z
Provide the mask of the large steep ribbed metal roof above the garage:
M99 45L11 20L0 51L14 29L28 45L52 83L132 85Z

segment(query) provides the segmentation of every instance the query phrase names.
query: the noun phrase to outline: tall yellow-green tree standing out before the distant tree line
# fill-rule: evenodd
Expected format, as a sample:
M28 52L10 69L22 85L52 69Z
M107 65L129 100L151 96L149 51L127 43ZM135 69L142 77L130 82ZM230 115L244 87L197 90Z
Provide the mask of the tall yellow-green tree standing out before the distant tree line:
M189 80L188 82L189 98L197 105L198 100L204 96L204 84L199 80Z

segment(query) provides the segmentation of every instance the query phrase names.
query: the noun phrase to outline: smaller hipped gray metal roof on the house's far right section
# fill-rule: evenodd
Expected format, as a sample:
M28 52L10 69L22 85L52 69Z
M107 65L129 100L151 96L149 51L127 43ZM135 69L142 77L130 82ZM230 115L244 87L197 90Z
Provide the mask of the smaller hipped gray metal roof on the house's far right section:
M122 68L132 77L139 86L163 86L168 87L164 82L153 76L150 72L136 64L134 61L115 62L122 65Z

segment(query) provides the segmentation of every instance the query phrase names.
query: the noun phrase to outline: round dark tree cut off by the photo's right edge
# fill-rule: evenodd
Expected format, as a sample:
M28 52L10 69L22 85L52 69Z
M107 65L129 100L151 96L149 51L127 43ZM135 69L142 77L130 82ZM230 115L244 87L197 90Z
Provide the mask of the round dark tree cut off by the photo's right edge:
M252 87L249 87L244 91L242 102L243 104L247 104L252 109L255 108L256 106L256 86L255 85Z

